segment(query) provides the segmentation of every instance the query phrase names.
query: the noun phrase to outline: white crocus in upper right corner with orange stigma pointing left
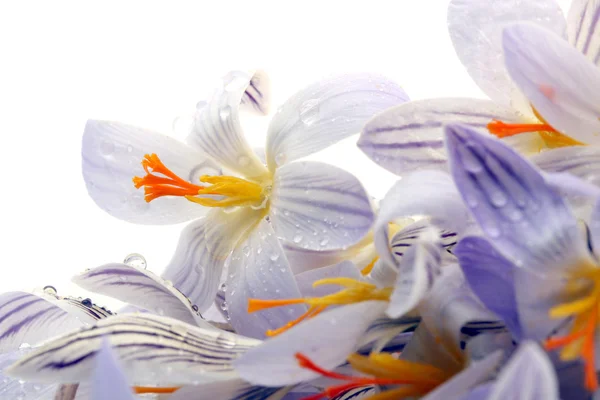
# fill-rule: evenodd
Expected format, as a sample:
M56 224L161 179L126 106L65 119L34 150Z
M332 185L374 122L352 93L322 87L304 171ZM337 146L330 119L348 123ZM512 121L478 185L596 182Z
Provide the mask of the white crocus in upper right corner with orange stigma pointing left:
M383 112L366 124L358 142L371 159L397 174L446 168L442 128L448 123L505 138L524 154L598 143L597 2L576 1L568 23L569 40L594 62L561 37L565 21L554 0L453 0L448 10L457 54L491 100L427 99ZM519 21L538 29L502 35L502 28Z

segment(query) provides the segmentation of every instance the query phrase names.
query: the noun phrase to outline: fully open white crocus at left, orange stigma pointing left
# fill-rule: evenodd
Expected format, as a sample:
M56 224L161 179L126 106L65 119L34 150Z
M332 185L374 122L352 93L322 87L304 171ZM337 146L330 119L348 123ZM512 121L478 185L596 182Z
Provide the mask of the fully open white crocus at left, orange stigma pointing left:
M244 139L239 111L266 114L268 100L264 74L234 73L197 111L188 145L114 122L89 121L83 135L88 191L110 214L135 223L168 224L208 212L185 229L172 271L165 275L177 278L178 287L182 277L196 280L188 296L200 311L212 304L232 251L237 261L231 271L252 253L253 266L260 265L263 275L249 280L242 272L230 272L229 306L236 303L233 288L246 284L249 290L272 290L274 297L298 294L288 272L281 271L278 255L267 249L261 253L264 237L330 250L351 246L369 231L370 200L354 176L324 163L292 161L359 132L372 115L407 97L387 79L366 74L313 84L273 117L265 166ZM269 222L261 223L265 218ZM281 292L274 286L281 286Z

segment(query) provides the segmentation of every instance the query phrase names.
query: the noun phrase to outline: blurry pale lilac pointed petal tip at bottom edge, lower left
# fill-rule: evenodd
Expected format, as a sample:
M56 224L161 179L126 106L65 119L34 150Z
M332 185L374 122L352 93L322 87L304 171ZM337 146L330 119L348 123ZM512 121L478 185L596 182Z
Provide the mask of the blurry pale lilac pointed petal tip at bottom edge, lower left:
M102 341L102 347L96 357L96 368L92 375L91 400L133 400L131 386L121 371L119 362L113 354L108 341Z

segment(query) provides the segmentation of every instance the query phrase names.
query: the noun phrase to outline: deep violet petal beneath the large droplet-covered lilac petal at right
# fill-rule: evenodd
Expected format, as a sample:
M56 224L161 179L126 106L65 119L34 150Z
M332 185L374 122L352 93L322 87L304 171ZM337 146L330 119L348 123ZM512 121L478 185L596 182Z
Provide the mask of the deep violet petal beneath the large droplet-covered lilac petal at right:
M521 322L514 287L515 268L484 238L463 238L453 250L473 292L502 318L518 340Z

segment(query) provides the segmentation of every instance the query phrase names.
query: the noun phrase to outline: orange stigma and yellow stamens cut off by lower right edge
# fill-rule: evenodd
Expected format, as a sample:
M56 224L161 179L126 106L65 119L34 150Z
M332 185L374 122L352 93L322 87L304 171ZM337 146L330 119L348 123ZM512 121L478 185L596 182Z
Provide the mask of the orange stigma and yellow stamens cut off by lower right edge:
M588 293L577 300L557 305L550 309L551 318L572 317L573 323L568 334L550 338L545 347L548 350L562 348L560 356L563 360L581 357L585 363L585 386L590 391L598 388L595 366L595 336L600 313L600 269L587 268L578 274L568 286L571 289L581 287L581 281L592 282Z

